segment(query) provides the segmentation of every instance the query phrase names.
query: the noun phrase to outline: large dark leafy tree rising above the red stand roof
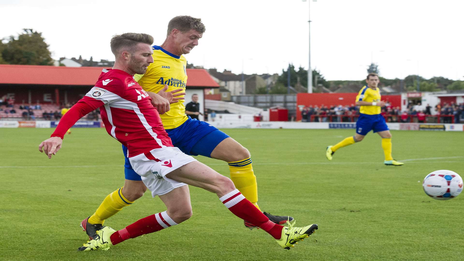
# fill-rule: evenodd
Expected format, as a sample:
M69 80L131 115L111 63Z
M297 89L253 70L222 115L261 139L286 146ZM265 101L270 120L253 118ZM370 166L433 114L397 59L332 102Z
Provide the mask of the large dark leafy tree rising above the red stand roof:
M51 53L42 33L23 29L18 39L10 36L1 52L6 63L13 65L53 65Z

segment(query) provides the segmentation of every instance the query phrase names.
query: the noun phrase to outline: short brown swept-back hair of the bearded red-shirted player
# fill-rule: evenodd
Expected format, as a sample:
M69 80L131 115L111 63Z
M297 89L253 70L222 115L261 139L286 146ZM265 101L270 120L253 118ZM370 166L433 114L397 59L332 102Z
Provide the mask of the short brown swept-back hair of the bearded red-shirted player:
M111 38L110 46L111 52L117 55L122 48L127 48L129 52L134 52L134 48L138 43L153 45L153 36L146 33L123 33L113 35Z

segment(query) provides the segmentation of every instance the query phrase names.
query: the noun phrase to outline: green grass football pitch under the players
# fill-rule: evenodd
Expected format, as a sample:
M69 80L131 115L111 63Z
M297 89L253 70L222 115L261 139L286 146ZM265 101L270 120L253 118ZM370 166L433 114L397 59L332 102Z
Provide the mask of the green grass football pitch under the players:
M262 230L250 231L205 190L191 187L193 217L109 251L77 252L79 222L123 183L120 144L103 129L73 129L51 160L39 143L52 129L0 129L0 260L278 260L462 261L464 195L433 200L422 179L434 170L464 174L462 132L392 131L385 166L380 137L338 150L325 147L353 130L224 130L248 148L261 209L292 215L319 230L284 250ZM426 159L432 158L432 159ZM228 176L225 163L198 159ZM120 229L164 211L150 194L107 221Z

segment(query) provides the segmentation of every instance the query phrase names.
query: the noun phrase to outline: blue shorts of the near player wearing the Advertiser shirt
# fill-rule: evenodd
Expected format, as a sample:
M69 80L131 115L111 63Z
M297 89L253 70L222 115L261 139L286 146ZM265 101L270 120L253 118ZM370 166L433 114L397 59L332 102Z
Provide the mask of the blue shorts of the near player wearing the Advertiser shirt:
M223 140L229 137L226 133L219 131L216 127L204 121L188 117L182 125L177 128L166 130L174 147L192 156L211 157L211 152ZM124 153L124 175L128 180L142 180L142 178L132 169L127 148L122 145Z

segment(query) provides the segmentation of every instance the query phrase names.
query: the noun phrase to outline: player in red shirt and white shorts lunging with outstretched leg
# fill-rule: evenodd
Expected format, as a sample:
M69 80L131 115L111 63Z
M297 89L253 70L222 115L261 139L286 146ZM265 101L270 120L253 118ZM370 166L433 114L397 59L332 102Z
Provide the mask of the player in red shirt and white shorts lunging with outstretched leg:
M107 250L130 238L145 235L186 221L192 215L187 184L216 193L236 216L268 232L286 249L311 235L317 225L288 227L269 220L235 188L232 181L171 143L161 124L158 111L134 74L143 74L153 63L153 37L143 33L123 33L111 39L116 62L113 69L100 74L95 87L64 115L52 136L39 150L52 158L61 148L64 133L90 111L100 108L106 131L128 148L129 161L143 183L158 195L166 211L149 215L121 230L104 226L80 251Z

